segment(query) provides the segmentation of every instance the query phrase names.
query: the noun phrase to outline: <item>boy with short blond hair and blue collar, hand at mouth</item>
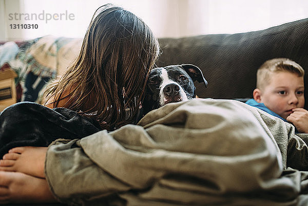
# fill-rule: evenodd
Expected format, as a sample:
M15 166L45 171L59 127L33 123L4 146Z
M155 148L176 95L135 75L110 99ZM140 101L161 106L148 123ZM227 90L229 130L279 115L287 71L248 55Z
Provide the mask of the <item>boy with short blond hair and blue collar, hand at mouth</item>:
M267 60L257 71L257 88L246 103L286 122L298 133L308 133L308 111L304 107L304 69L296 62Z

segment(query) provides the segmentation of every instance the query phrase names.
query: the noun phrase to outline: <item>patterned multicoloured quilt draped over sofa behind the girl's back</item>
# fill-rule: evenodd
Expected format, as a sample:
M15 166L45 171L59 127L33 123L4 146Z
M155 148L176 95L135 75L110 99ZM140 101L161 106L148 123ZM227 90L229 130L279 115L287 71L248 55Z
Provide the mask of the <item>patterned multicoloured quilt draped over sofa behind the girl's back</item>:
M47 35L1 45L0 66L9 66L18 74L16 101L42 103L47 83L63 74L78 55L81 43L82 39Z

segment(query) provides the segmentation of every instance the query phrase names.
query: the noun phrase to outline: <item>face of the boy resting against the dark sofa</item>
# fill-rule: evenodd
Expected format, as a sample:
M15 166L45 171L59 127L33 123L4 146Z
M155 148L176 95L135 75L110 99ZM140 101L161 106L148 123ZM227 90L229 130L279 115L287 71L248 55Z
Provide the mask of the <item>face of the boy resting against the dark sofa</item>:
M304 78L297 74L281 71L271 74L269 84L260 90L259 101L286 119L295 107L304 107Z

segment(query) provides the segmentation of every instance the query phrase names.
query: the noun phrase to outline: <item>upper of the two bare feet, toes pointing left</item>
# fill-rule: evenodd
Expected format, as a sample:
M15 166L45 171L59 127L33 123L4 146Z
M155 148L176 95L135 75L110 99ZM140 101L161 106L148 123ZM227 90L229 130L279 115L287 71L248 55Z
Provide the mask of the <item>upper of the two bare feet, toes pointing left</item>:
M15 147L0 160L0 171L21 172L45 178L45 156L47 147Z

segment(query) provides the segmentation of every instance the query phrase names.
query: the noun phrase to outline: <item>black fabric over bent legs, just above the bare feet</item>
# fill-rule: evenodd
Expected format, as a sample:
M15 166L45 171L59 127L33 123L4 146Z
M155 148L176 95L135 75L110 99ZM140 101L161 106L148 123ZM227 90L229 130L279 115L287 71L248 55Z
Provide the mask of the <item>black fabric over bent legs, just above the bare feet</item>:
M0 113L0 157L17 146L48 146L58 138L80 139L100 130L97 121L66 108L20 102Z

